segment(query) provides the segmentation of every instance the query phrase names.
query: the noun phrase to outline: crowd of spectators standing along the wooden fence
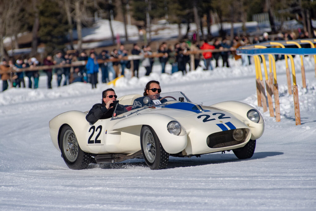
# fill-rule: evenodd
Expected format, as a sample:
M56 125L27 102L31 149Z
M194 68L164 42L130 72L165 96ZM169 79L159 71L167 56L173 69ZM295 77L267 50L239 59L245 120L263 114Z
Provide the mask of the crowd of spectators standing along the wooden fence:
M295 33L279 33L274 38L274 40L293 40L297 38L308 38L308 33L301 33L296 37ZM1 63L1 80L3 81L2 90L8 88L8 81L12 78L14 87L28 87L28 88L38 88L39 71L21 71L20 68L25 67L36 67L40 65L52 66L52 69L43 70L47 75L47 88L52 88L52 76L53 73L57 77L57 86L68 85L74 82L88 82L91 83L92 88L96 88L98 83L98 74L101 74L101 82L107 83L110 80L125 74L125 69L130 69L132 76L139 77L139 68L145 68L145 75L149 75L152 72L153 64L155 60L161 65L161 73L166 73L166 65L169 63L171 65L171 74L181 71L186 74L191 68L191 59L194 59L194 68L202 66L204 70L213 70L215 67L230 67L228 58L232 57L235 60L241 60L243 66L251 64L251 57L247 55L237 55L234 49L240 46L255 44L259 42L269 41L268 33L264 33L262 36L254 36L249 39L247 36L236 36L232 41L228 40L227 37L214 38L212 40L203 40L201 43L196 43L194 41L180 41L174 45L167 44L167 42L162 42L157 49L159 57L152 56L153 52L150 45L144 45L142 48L139 47L137 43L133 45L131 49L131 55L138 56L133 58L133 60L122 59L129 55L128 50L125 49L124 45L120 45L118 49L113 49L109 52L106 49L101 50L100 54L97 54L94 49L88 51L87 55L85 51L76 53L64 53L61 51L56 52L54 55L47 55L43 62L38 61L35 57L31 58L18 58L15 61L3 61ZM205 51L201 52L198 50L219 50L215 52ZM226 50L224 50L226 49ZM189 51L195 51L197 53L190 57ZM100 60L116 59L113 61L98 62ZM220 63L220 59L222 62ZM276 60L284 59L283 55L276 55ZM212 61L215 60L215 67L212 66ZM86 65L64 67L65 64L71 64L73 61L87 61ZM203 62L201 62L203 61ZM56 67L59 65L60 67ZM12 75L6 73L6 68L14 69L15 71ZM40 68L39 68L40 69ZM110 75L112 78L110 79ZM63 77L64 76L64 77ZM28 84L26 85L24 78L27 77ZM64 78L64 83L61 84L62 78Z

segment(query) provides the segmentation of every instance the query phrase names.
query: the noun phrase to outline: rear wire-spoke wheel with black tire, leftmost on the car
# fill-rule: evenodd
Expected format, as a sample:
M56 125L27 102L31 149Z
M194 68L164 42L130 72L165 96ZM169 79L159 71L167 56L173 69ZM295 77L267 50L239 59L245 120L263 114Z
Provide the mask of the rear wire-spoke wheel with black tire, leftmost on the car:
M70 169L79 170L88 167L91 156L80 149L75 132L69 125L61 130L59 146L62 157Z

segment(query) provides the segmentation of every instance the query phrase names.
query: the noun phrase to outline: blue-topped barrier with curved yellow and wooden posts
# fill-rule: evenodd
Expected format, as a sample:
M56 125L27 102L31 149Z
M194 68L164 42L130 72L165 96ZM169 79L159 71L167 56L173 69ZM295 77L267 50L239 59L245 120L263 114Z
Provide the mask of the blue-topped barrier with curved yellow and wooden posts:
M299 43L309 43L311 45L311 48L302 48ZM267 103L266 103L266 97L265 97L265 91L264 91L264 82L263 82L263 78L262 78L261 63L259 60L259 56L261 56L262 61L263 61L263 66L264 66L265 86L266 86L267 96L268 96L268 105L269 105L270 116L274 116L272 97L271 97L271 95L274 94L275 112L276 112L275 116L276 116L277 122L280 121L280 105L279 105L278 84L277 84L277 78L276 78L276 65L275 65L275 59L274 59L273 55L275 55L275 54L284 55L289 94L292 94L292 88L293 88L295 124L301 125L298 88L297 88L297 83L296 83L296 73L295 73L295 66L294 66L294 60L293 60L292 55L300 55L302 86L303 86L303 88L306 88L306 76L305 76L303 56L304 55L313 55L314 62L315 62L315 75L316 75L315 43L316 43L316 39L274 41L274 42L267 41L267 42L262 42L259 44L243 46L243 47L240 47L236 50L237 54L252 55L254 57L255 68L256 68L258 106L262 106L264 112L266 112L267 111ZM292 45L292 46L295 45L298 48L287 48L287 46L289 46L289 45ZM279 48L273 48L276 46L278 46ZM270 67L269 75L268 75L267 65L266 65L264 55L269 55L269 67ZM291 62L293 86L291 84L288 58L290 59L290 62ZM272 86L273 86L273 89L272 89Z

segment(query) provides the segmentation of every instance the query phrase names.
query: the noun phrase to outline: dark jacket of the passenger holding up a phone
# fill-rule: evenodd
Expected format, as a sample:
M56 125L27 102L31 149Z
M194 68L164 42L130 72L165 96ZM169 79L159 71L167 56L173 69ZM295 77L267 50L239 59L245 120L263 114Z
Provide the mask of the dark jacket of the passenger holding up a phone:
M88 112L86 119L90 124L96 123L99 119L107 119L111 118L114 112L115 107L107 110L105 107L105 103L97 103L92 106L90 111ZM125 107L121 104L118 104L116 108L116 115L127 112Z

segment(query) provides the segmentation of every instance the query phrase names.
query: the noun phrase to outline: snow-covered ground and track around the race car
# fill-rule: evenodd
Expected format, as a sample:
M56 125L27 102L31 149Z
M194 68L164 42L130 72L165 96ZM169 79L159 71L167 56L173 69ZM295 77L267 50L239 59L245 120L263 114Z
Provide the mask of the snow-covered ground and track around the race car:
M163 92L180 90L196 103L237 100L263 113L265 131L251 159L239 160L233 152L170 157L164 170L150 170L143 159L67 168L51 142L48 122L62 112L89 110L106 84L56 87L54 78L48 90L41 76L36 90L0 92L0 210L314 210L316 79L313 59L304 57L304 63L306 89L295 57L302 123L297 126L284 61L276 63L281 122L256 105L255 68L242 67L241 61L185 76L160 74L159 65L139 79L127 72L114 87L118 96L143 93L146 82L155 79Z

